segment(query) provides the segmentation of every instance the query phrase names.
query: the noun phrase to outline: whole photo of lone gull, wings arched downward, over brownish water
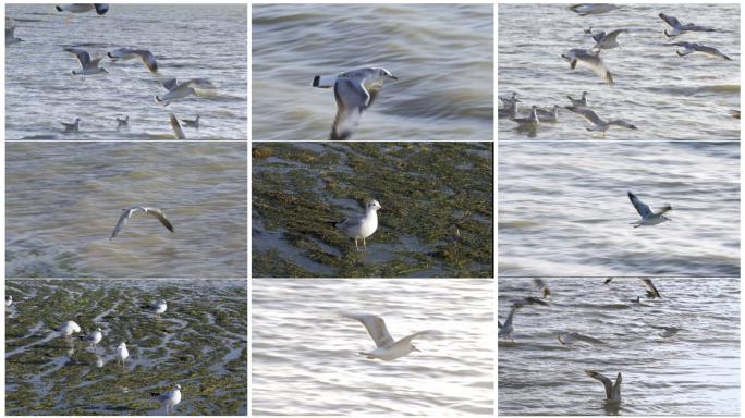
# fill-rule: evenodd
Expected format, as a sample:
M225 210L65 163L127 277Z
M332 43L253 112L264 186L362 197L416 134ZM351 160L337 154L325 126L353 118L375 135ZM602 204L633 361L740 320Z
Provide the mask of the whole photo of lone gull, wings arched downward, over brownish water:
M5 144L9 278L245 278L247 145Z

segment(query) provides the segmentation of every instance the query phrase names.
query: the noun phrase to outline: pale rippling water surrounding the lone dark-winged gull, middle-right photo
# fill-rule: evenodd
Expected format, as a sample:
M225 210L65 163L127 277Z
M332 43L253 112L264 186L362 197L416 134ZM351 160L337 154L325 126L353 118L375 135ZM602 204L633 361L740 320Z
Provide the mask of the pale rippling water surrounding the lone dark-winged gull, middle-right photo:
M740 276L740 143L499 145L499 274ZM672 222L633 228L626 192Z

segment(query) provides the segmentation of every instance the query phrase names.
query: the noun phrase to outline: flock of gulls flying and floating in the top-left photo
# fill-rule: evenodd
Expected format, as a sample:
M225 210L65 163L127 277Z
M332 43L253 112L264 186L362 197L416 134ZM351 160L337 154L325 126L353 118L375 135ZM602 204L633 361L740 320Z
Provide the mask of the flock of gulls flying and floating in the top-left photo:
M97 14L103 15L109 11L109 4L68 4L68 5L57 5L57 11L58 12L70 12L68 15L68 23L70 23L73 19L74 13L85 13L85 12L90 12L90 11L96 11ZM5 27L5 47L13 45L13 44L19 44L22 42L23 39L16 38L14 33L16 28L15 21L13 21L12 17L10 19L10 26ZM66 48L66 52L71 52L75 54L77 58L77 61L81 64L81 67L78 70L73 70L72 73L74 75L80 75L81 76L81 82L84 82L86 76L89 75L96 75L96 74L108 74L109 72L103 69L100 65L101 59L103 59L105 56L98 56L96 58L91 58L90 53L87 51L80 49L80 48ZM109 51L107 52L107 56L111 59L112 62L117 62L119 60L131 60L131 59L139 59L145 66L150 71L152 74L159 74L158 73L158 62L156 61L155 56L147 50L144 49L131 49L131 48L119 48L115 51ZM178 78L170 78L167 79L166 82L162 83L163 87L168 93L163 95L156 95L155 99L157 102L164 102L163 106L169 106L171 103L171 100L178 100L178 99L183 99L190 95L195 95L198 96L194 87L197 88L209 88L209 89L215 89L215 85L210 83L208 79L205 78L192 78L183 83L179 83ZM193 87L190 87L192 85ZM184 121L184 120L182 120ZM64 123L62 122L62 125L64 126L64 131L80 131L80 118L75 119L74 123ZM194 122L194 123L191 123ZM130 116L127 115L124 120L117 118L117 123L118 123L118 128L121 126L129 126L130 125ZM191 127L198 127L199 126L199 116L197 116L196 121L184 121L185 126L191 126ZM173 130L173 134L176 139L186 139L186 135L184 134L184 131L181 128L181 125L179 124L178 120L171 113L171 128Z

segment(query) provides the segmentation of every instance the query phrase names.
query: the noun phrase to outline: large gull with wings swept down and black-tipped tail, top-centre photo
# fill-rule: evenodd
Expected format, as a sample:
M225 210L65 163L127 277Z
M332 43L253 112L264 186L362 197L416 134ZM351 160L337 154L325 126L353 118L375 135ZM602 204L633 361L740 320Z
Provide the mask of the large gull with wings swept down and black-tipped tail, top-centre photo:
M331 88L333 86L337 116L331 126L331 140L343 140L352 135L359 124L363 111L373 104L386 78L399 79L386 69L373 67L323 77L316 75L313 78L314 87ZM369 87L363 85L366 79L373 83Z

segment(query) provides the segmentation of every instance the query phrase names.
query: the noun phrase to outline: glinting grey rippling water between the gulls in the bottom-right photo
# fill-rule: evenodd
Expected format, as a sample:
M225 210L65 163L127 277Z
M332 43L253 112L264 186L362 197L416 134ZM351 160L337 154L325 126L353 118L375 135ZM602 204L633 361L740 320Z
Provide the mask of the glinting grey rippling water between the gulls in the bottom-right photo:
M740 280L654 279L661 299L638 279L546 279L553 307L513 316L514 343L499 343L499 415L740 415ZM528 279L499 279L499 318L537 292ZM683 328L662 339L654 325ZM607 347L562 346L554 333L581 332ZM615 382L620 404L583 370Z

